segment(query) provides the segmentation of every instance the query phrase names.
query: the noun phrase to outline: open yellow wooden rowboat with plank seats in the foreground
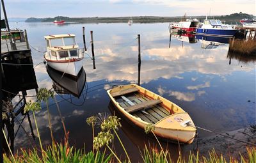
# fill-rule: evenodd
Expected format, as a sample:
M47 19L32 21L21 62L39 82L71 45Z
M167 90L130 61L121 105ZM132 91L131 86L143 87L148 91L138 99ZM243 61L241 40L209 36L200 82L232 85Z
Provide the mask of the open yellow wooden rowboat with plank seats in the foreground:
M188 113L178 105L136 84L109 89L108 95L120 113L140 128L154 124L154 134L191 144L196 128Z

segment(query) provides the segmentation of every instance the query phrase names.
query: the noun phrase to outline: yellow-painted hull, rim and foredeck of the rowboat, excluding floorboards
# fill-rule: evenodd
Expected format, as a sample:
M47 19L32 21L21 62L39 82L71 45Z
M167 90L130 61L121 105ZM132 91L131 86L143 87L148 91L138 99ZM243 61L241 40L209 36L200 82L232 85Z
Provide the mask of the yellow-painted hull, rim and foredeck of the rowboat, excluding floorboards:
M170 115L167 115L164 118L159 118L156 121L145 121L142 117L139 117L138 114L141 113L128 113L129 109L131 107L124 107L124 105L121 105L123 103L117 102L117 98L113 97L116 92L120 90L130 89L130 88L136 88L138 89L138 93L140 95L143 95L141 98L147 98L150 100L161 100L161 104L159 107L166 109L166 112L170 112ZM128 93L129 94L129 93ZM127 95L128 95L127 94ZM138 94L138 95L139 95ZM181 123L184 121L190 121L190 124L192 126L195 126L193 121L191 120L188 113L183 111L179 106L173 104L169 100L166 100L163 97L160 97L159 95L156 95L155 93L152 93L151 91L148 91L145 88L141 88L140 86L137 86L136 84L130 84L126 86L118 86L116 88L108 90L108 95L111 98L111 101L116 106L118 111L121 114L124 114L125 118L129 119L134 123L134 125L144 129L146 125L149 123L153 123L155 126L154 133L159 136L163 137L164 139L170 139L172 141L176 141L179 143L192 143L195 136L196 136L196 128L191 126L182 126ZM134 107L134 106L132 106ZM151 109L151 108L150 108ZM147 111L147 109L145 109ZM151 110L150 110L151 111ZM140 112L140 111L139 111ZM148 111L149 112L149 111ZM153 114L153 113L152 113ZM155 113L156 114L156 113ZM149 116L145 114L145 116ZM160 116L159 116L160 117Z

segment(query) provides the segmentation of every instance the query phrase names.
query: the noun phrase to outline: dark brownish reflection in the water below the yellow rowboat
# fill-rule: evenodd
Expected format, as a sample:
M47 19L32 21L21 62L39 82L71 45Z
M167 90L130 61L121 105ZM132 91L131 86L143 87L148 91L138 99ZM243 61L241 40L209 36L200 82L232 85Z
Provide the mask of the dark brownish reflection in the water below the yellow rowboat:
M122 131L131 140L131 142L138 147L138 149L141 152L143 152L143 149L145 149L145 146L147 146L148 148L154 148L154 149L157 148L157 150L159 151L161 150L153 134L145 134L144 130L141 130L141 128L135 125L132 125L133 123L129 123L129 120L126 119L125 116L122 116L122 114L118 112L118 109L115 108L112 102L109 102L108 108L111 114L118 116L118 118L121 118ZM173 160L177 160L179 155L178 144L169 143L167 139L159 139L159 140L160 140L161 146L163 146L164 149L172 151L170 152L171 158ZM182 151L182 149L180 150Z

